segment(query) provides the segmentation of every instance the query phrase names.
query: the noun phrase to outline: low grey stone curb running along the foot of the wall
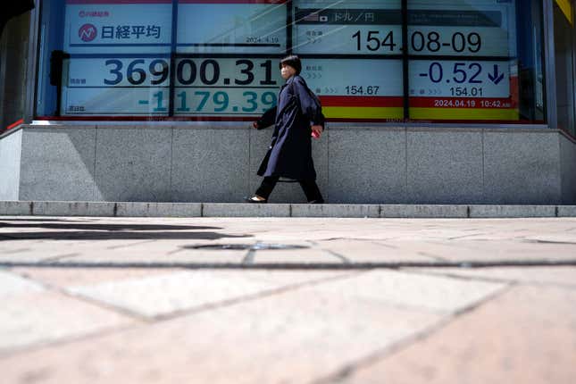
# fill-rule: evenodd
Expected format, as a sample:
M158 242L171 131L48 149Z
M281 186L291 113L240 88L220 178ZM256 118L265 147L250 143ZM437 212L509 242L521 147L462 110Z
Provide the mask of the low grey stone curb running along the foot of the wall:
M0 216L522 218L576 217L576 205L303 205L0 201Z

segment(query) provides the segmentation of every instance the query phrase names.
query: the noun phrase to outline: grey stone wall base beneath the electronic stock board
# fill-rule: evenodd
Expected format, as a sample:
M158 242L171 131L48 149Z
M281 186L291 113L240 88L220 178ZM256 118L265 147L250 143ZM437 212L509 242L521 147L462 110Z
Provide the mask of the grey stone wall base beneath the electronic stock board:
M0 138L0 200L240 202L271 129L25 125ZM573 205L576 144L555 129L330 125L313 140L333 204ZM274 203L305 203L280 183Z

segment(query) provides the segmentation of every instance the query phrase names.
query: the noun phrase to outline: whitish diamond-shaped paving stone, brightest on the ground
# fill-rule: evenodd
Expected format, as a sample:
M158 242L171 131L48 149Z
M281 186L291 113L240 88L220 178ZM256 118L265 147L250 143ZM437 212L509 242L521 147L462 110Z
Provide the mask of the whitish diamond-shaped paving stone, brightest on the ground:
M259 276L267 275L267 271L180 271L72 287L69 291L154 318L185 310L197 310L206 305L230 302L280 288L279 282L259 280ZM314 275L305 275L300 279L310 279L310 276Z

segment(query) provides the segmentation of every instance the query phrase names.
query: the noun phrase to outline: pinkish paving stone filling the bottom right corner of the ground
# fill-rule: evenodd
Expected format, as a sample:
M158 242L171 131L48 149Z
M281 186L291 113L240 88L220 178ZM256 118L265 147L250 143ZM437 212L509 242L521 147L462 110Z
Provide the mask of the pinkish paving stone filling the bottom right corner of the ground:
M572 383L575 302L574 289L513 288L427 338L360 365L338 382Z

